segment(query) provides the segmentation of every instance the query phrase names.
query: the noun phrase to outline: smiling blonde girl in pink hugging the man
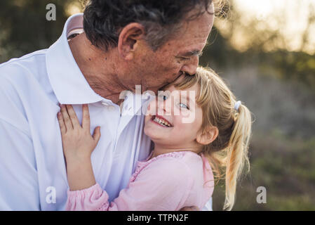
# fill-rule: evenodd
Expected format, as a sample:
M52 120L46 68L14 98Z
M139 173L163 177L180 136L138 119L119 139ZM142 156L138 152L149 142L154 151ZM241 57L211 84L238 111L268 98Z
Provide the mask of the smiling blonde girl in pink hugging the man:
M82 125L71 105L61 105L58 121L69 182L66 210L201 209L213 193L213 172L220 177L222 169L224 209L232 209L236 181L244 163L249 166L248 108L236 102L213 70L204 68L194 76L180 77L164 91L149 103L145 117L145 134L154 142L154 150L138 162L127 188L112 203L96 183L91 165L100 127L91 136L87 105L83 105Z

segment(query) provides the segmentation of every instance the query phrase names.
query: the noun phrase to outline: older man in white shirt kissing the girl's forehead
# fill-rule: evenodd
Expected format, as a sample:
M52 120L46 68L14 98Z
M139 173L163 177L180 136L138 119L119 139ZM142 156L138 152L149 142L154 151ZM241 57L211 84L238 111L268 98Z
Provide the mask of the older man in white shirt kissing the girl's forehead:
M120 99L121 92L138 84L156 92L194 75L213 10L211 0L91 0L49 49L1 64L0 210L64 210L59 103L74 105L80 120L88 104L91 131L102 127L93 172L109 200L116 198L151 143L138 113L147 99L133 104L137 94Z

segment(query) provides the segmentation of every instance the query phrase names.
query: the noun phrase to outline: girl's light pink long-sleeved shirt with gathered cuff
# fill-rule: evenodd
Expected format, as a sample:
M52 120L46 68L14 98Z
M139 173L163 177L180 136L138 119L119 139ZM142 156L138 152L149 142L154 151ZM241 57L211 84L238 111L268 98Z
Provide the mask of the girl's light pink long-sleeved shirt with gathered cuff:
M112 203L99 184L80 191L68 190L66 210L177 211L190 206L202 209L213 188L208 160L190 151L178 151L139 161L127 188Z

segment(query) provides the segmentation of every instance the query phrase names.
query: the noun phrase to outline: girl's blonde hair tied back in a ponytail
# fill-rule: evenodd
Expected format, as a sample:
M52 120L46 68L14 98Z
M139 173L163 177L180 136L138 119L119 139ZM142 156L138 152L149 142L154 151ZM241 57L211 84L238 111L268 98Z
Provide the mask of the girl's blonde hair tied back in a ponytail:
M202 129L208 126L217 127L217 139L203 146L205 155L217 180L225 170L224 210L232 210L236 193L236 181L243 166L250 164L248 160L248 143L251 134L251 115L243 103L238 110L234 109L236 98L224 81L210 68L197 68L196 75L185 76L181 82L175 83L177 89L187 89L199 84L196 103L203 110Z

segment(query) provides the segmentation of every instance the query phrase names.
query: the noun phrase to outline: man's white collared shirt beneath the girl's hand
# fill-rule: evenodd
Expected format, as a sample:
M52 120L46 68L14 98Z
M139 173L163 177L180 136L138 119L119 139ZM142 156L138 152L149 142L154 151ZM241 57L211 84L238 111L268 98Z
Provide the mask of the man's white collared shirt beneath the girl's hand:
M73 15L48 49L0 65L0 210L65 209L69 186L58 103L72 104L80 122L81 106L87 103L91 134L101 127L91 160L95 179L109 200L126 188L136 162L149 155L151 141L139 113L148 98L128 96L121 114L119 105L95 94L67 41L82 22L81 13Z

